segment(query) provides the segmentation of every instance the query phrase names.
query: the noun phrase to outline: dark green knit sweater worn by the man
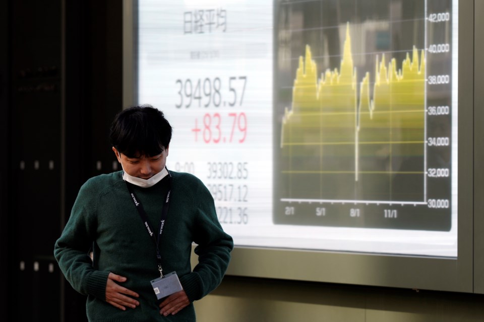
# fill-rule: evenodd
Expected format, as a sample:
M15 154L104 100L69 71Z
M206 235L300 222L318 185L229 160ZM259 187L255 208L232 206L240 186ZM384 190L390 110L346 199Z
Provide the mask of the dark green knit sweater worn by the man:
M160 240L163 273L175 271L191 304L175 315L159 313L150 281L159 277L156 246L128 192L121 171L89 179L55 243L54 256L75 290L87 297L89 321L194 321L193 301L214 290L230 261L232 238L218 222L213 198L195 176L170 172L173 186ZM150 226L158 229L169 176L150 188L133 186ZM156 235L156 233L155 233ZM192 243L199 263L191 269ZM93 260L89 250L93 251ZM140 305L126 311L105 301L109 272L137 292Z

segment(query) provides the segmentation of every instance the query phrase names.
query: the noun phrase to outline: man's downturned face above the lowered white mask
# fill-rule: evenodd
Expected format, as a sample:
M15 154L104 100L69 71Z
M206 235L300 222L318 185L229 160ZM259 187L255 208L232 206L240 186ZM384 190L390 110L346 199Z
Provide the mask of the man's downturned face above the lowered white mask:
M127 174L145 180L150 179L163 170L166 165L166 157L168 156L168 147L161 154L154 156L140 155L139 157L128 157L116 150L114 146L112 150Z

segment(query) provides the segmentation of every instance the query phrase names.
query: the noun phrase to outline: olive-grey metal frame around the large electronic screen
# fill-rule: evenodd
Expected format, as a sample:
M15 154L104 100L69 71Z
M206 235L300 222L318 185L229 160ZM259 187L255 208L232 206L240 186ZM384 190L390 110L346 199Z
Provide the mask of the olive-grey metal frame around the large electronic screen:
M136 102L137 90L137 6L136 0L124 0L123 56L124 107ZM482 170L477 166L482 154L482 113L474 104L484 101L473 84L482 85L479 77L484 67L474 66L474 56L482 44L474 27L477 10L474 2L459 2L458 56L458 257L416 257L385 254L327 252L235 246L227 275L285 280L343 283L369 286L428 289L455 292L484 292L484 225L474 209L482 208ZM477 5L479 6L479 5ZM482 4L480 5L482 7ZM482 23L480 23L483 27ZM472 35L469 37L468 35ZM475 47L474 47L475 45ZM476 72L479 68L480 73ZM480 83L478 83L480 82ZM474 133L474 128L476 133ZM479 151L480 154L474 151ZM475 150L474 150L475 149ZM475 174L480 180L474 181ZM478 193L479 192L479 193ZM480 197L479 197L480 196ZM480 223L479 225L474 226ZM474 234L476 238L474 239ZM479 241L479 243L477 243ZM476 274L476 275L474 275Z

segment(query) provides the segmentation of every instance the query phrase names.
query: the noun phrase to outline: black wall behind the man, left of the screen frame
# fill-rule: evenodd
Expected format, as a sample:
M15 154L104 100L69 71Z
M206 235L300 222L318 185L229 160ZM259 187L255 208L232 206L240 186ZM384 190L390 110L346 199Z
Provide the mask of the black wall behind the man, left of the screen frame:
M108 127L123 108L122 2L0 6L3 312L16 321L83 321L85 296L52 253L80 186L112 171Z

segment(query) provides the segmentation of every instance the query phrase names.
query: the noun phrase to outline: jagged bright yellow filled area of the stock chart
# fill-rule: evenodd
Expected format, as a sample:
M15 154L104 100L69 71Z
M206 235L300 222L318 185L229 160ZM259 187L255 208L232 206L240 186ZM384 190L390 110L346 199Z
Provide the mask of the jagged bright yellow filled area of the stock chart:
M387 64L385 55L377 56L374 75L366 72L358 82L349 23L339 69L328 69L319 76L307 45L305 57L299 57L292 106L285 108L282 118L281 155L298 153L304 157L302 148L292 149L318 145L320 171L354 172L355 181L359 173L382 172L373 168L374 156L388 159L388 174L398 171L391 169L392 158L423 156L425 63L425 51L419 54L415 47L411 57L406 54L400 68L395 58ZM338 162L339 158L346 162Z

